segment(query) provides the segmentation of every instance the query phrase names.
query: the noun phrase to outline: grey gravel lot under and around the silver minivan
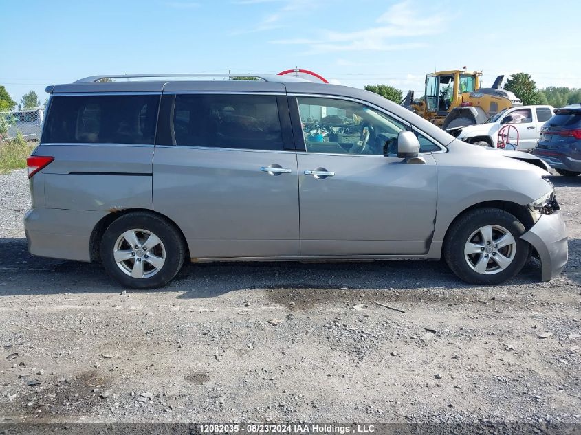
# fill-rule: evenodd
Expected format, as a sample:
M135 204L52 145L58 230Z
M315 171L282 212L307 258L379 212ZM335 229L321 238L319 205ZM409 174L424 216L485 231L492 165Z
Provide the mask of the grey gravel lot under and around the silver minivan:
M549 283L534 260L497 287L413 260L232 263L125 293L30 256L25 173L0 175L0 423L581 423L581 177L553 182L570 260Z

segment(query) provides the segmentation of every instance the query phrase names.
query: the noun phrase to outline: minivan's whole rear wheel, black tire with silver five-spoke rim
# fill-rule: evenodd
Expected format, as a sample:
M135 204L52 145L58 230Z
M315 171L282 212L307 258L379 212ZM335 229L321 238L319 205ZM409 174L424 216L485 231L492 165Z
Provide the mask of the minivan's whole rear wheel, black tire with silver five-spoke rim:
M100 254L107 274L121 285L155 289L170 282L182 268L186 247L172 223L152 213L134 212L107 227Z

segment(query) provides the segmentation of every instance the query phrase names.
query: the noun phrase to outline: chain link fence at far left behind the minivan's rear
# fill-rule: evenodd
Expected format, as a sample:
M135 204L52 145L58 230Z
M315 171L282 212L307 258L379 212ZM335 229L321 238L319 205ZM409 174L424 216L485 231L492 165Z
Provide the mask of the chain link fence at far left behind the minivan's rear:
M43 107L0 112L0 141L16 139L20 133L26 142L38 142L44 114Z

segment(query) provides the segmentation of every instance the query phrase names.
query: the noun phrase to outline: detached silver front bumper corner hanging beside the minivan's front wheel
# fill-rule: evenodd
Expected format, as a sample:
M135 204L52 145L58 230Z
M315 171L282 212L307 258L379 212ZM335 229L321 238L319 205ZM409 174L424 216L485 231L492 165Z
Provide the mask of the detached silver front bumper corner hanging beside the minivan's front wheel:
M567 229L560 212L544 214L522 236L538 252L542 267L542 282L560 274L567 264Z

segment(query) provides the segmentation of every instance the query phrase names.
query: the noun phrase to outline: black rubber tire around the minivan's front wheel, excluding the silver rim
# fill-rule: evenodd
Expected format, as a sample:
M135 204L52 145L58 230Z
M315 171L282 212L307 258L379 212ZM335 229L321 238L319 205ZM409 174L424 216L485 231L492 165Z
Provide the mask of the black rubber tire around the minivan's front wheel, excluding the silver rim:
M496 267L498 271L494 274L483 274L474 270L469 265L469 260L464 254L464 249L466 243L469 239L472 240L471 236L474 232L477 232L479 228L485 227L487 225L496 225L507 230L514 238L514 245L512 247L501 248L501 249L515 249L514 256L512 256L512 262L509 263L505 269L501 269L498 263L493 260L492 255L496 258L496 253L494 254L474 254L469 256L470 261L474 261L486 256L487 266L490 265L491 269ZM496 231L496 230L495 230ZM495 285L500 284L506 280L514 278L520 269L527 262L530 255L530 245L523 241L520 236L525 232L525 227L516 217L505 210L498 208L479 208L476 210L470 210L462 216L460 216L448 230L446 234L446 240L443 245L443 256L448 263L448 267L452 269L454 274L458 276L461 280L465 282L470 282L470 284L480 284L480 285ZM477 236L476 236L477 237ZM480 242L486 245L485 242ZM494 245L496 246L496 245ZM487 248L486 248L487 249ZM507 251L498 252L498 254L507 254Z

